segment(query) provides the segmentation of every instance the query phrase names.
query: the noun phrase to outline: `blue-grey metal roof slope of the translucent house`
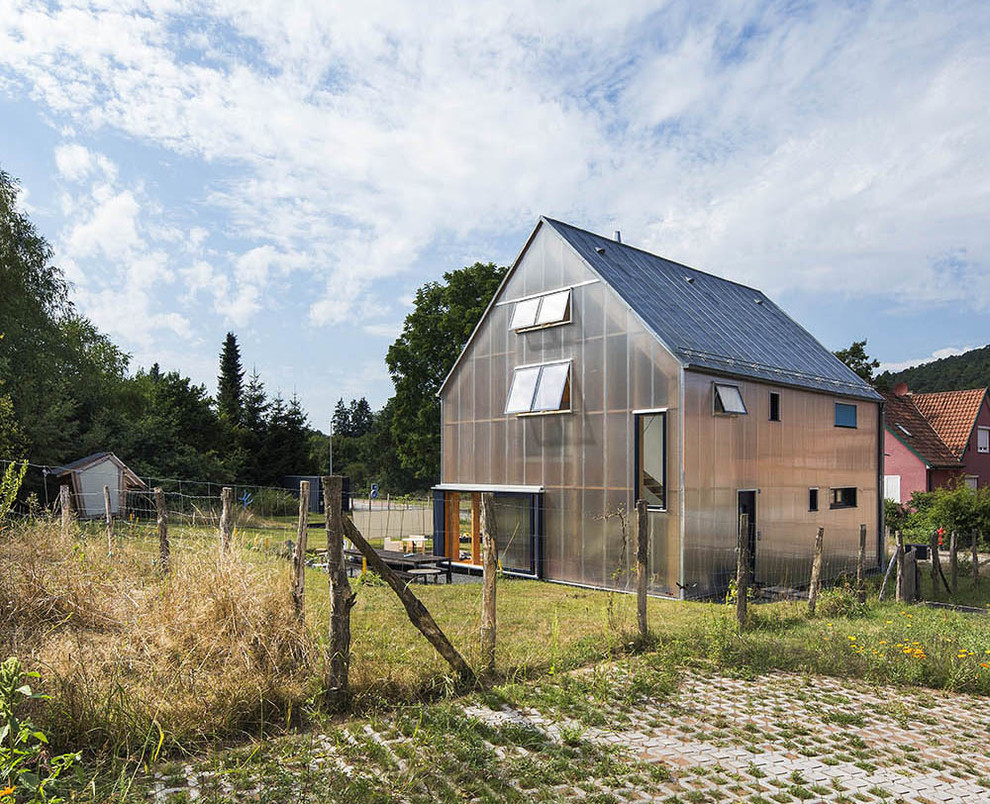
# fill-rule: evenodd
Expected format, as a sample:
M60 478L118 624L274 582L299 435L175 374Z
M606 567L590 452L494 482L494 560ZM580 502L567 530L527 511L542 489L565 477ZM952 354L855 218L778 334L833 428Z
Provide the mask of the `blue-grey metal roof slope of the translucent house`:
M544 218L686 368L880 395L761 291Z

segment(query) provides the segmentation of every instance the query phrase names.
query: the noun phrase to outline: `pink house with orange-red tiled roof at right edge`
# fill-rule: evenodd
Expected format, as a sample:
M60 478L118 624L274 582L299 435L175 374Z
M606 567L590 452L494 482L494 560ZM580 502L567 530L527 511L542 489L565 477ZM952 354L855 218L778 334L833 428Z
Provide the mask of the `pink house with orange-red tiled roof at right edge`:
M884 398L884 497L906 504L916 491L960 479L990 487L986 388L912 394L898 383Z

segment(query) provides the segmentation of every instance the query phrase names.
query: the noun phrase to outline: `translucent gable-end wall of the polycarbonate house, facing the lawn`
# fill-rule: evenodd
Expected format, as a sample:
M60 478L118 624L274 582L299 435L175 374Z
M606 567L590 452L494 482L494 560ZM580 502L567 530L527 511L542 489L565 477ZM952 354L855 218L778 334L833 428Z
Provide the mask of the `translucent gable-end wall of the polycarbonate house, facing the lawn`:
M515 300L567 288L568 323L513 329ZM563 305L553 313L564 315ZM548 372L554 382L540 404L556 405L567 379L569 411L503 413L514 369L554 362L560 368ZM543 577L631 588L633 411L671 412L666 459L680 467L679 374L628 306L543 226L444 390L443 482L543 487ZM677 593L680 577L680 478L671 471L667 510L649 514L651 591L666 595Z

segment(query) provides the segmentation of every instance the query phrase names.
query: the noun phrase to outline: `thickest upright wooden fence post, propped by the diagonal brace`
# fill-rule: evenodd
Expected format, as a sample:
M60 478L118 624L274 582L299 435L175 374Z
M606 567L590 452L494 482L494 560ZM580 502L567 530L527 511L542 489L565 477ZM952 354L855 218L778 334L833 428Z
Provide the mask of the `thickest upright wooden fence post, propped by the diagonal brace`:
M341 708L347 701L347 676L351 663L351 608L357 597L351 591L344 564L345 522L341 513L343 478L323 478L324 523L327 530L327 575L330 583L330 678L327 701Z

